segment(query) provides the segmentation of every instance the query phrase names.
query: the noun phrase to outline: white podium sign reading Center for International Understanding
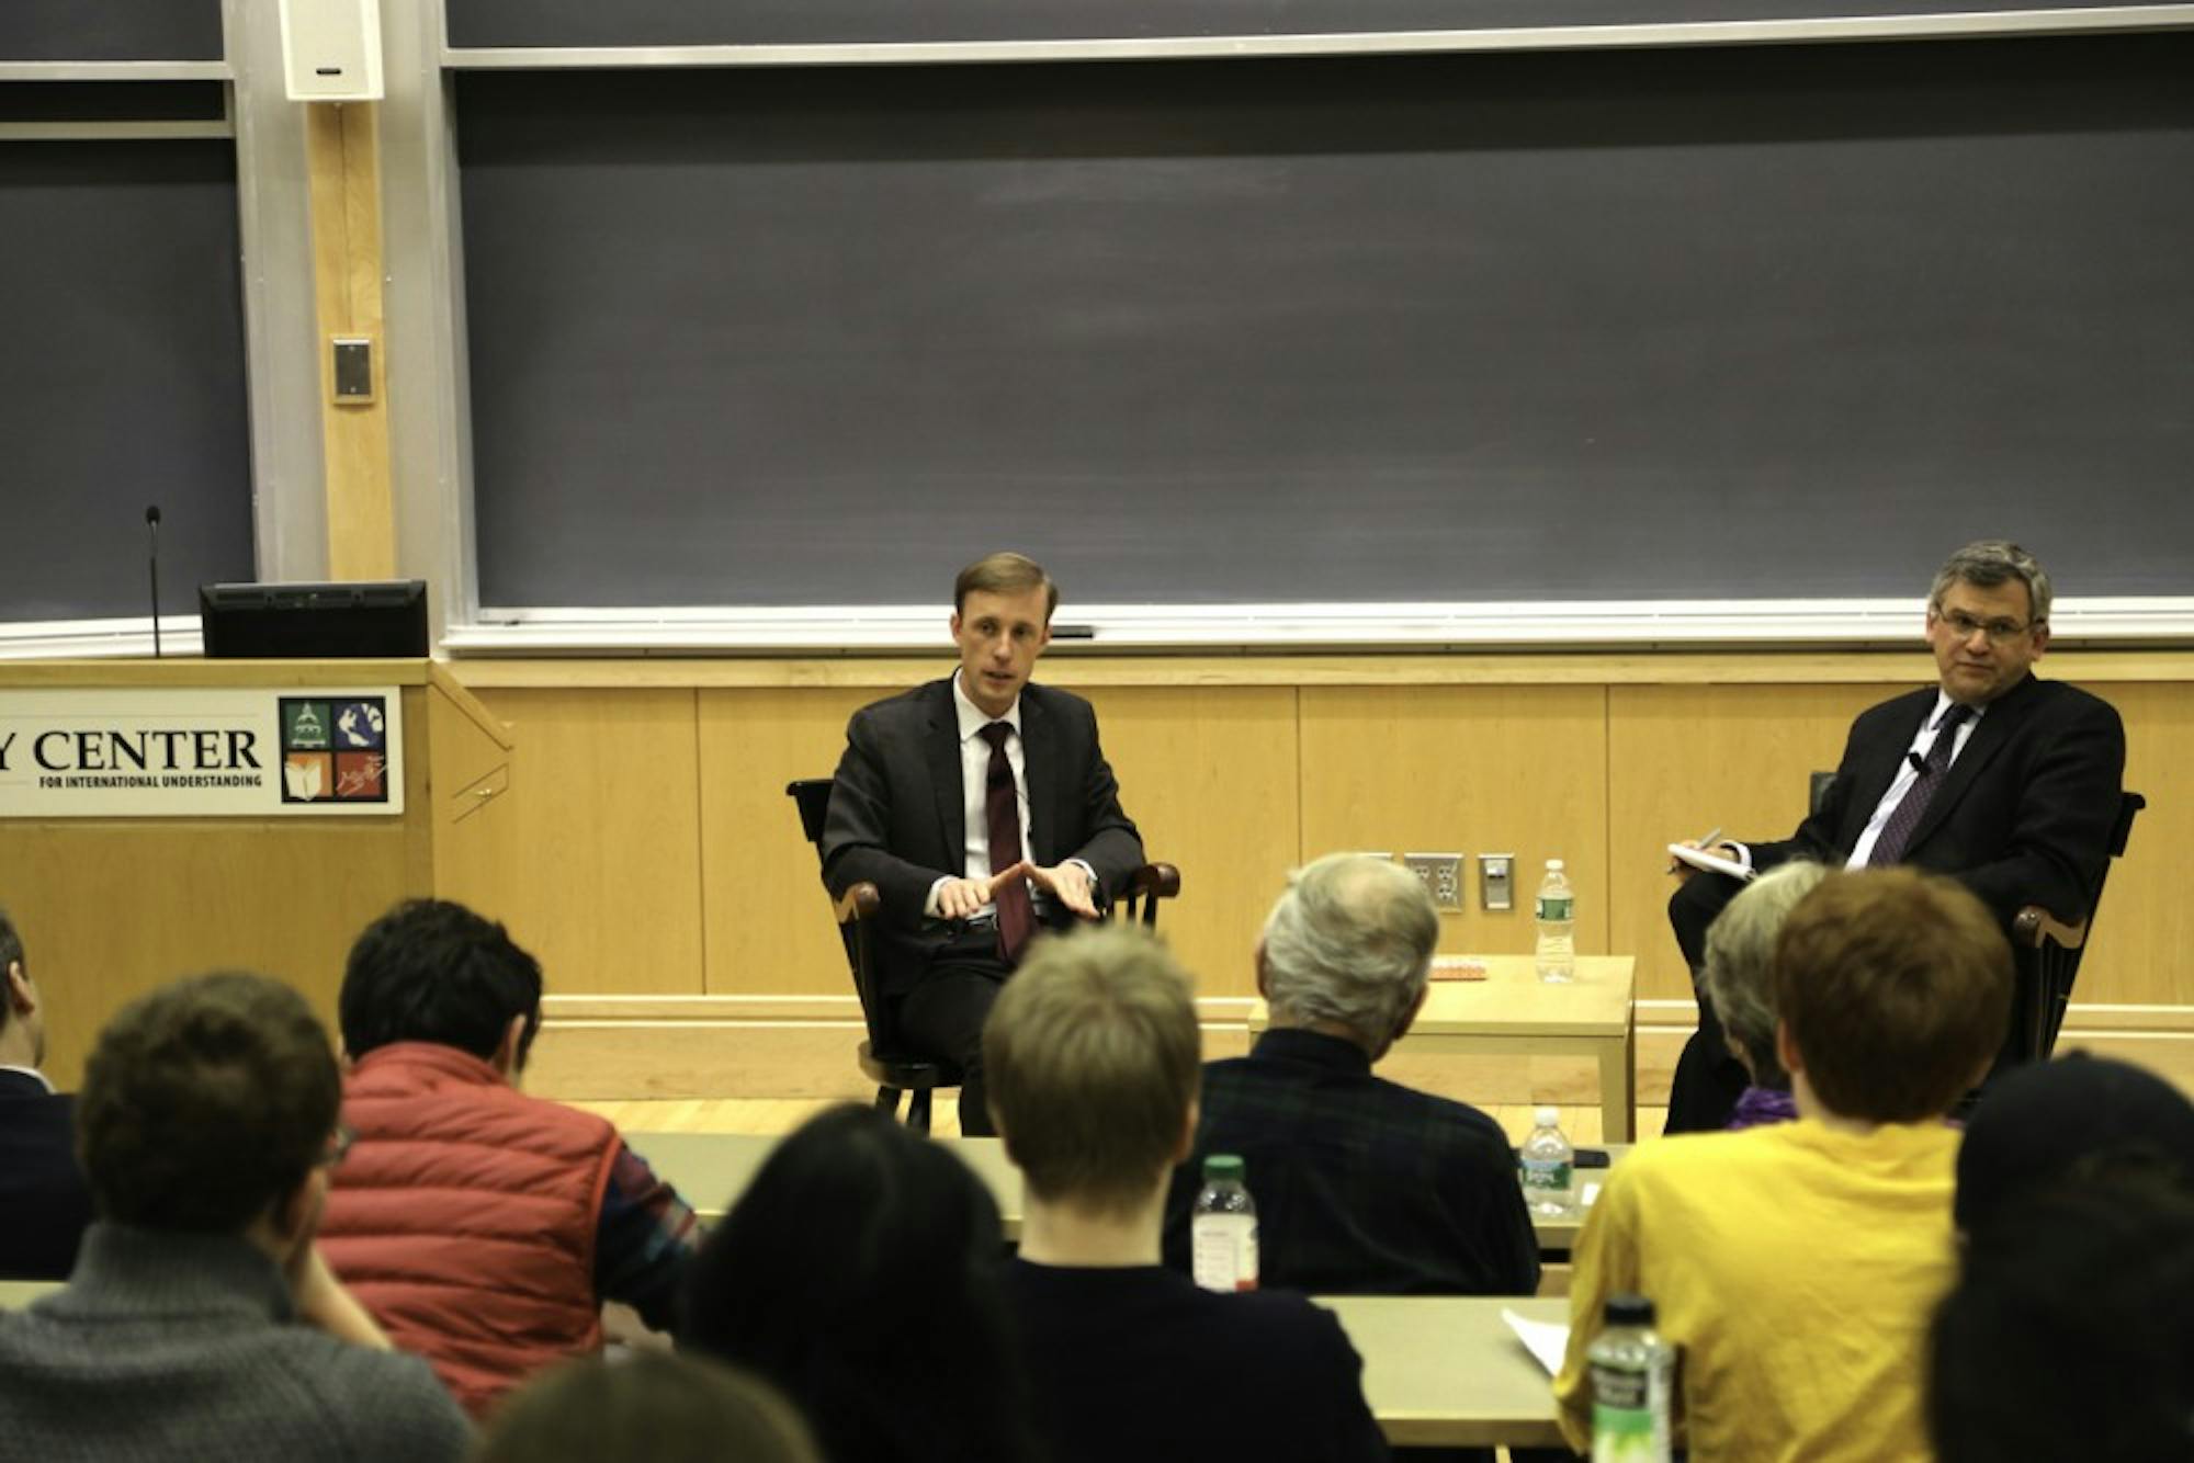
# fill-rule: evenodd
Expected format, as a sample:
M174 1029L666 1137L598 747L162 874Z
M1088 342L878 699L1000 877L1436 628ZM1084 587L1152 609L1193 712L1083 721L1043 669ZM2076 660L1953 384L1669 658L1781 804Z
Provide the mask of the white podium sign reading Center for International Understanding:
M395 687L9 691L0 818L404 812Z

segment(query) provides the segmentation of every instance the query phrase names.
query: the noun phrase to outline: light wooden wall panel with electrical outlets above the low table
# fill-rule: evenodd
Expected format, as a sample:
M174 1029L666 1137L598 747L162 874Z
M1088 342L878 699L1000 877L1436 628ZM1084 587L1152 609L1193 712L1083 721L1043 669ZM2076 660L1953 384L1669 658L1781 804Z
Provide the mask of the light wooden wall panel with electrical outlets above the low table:
M1577 952L1608 952L1606 687L1305 687L1303 858L1514 853L1516 908L1448 915L1441 950L1531 950L1542 864L1569 864Z

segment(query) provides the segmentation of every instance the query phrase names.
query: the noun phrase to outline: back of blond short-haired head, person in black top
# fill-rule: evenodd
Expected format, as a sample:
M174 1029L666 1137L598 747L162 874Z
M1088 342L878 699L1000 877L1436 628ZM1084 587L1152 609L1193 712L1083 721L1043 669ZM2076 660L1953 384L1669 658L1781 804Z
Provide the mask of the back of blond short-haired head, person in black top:
M1007 1158L1090 1213L1134 1211L1183 1158L1200 1057L1189 980L1136 926L1038 941L983 1027Z

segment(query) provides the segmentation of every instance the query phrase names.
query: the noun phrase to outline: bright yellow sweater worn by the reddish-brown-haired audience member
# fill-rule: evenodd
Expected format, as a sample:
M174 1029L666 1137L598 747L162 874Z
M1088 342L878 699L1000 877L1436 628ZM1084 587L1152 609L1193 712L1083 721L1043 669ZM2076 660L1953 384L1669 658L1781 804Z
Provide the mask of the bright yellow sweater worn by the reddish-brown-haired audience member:
M1926 1459L1926 1327L1957 1266L1942 1123L1814 1121L1661 1138L1617 1167L1577 1237L1562 1432L1591 1448L1584 1349L1637 1292L1681 1349L1698 1463Z

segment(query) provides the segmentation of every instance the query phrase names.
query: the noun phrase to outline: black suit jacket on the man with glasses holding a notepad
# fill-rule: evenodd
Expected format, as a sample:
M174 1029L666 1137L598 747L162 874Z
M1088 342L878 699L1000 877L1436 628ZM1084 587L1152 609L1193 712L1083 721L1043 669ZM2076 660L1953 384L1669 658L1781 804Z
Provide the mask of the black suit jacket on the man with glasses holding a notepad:
M1755 844L1753 866L1847 860L1933 708L1929 687L1861 713L1821 809L1795 836ZM2005 923L2023 904L2084 919L2111 862L2124 774L2117 711L2078 687L2027 676L1988 704L1902 862L1957 877Z

